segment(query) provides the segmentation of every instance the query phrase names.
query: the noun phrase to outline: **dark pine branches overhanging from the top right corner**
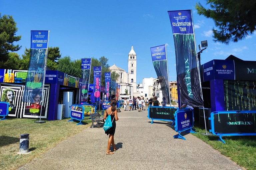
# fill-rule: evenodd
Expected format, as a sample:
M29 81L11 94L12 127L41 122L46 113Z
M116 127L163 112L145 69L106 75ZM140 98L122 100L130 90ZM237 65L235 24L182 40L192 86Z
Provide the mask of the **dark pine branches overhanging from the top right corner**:
M256 30L256 1L207 0L211 9L196 3L199 15L212 18L217 29L213 28L215 42L228 44L238 42Z

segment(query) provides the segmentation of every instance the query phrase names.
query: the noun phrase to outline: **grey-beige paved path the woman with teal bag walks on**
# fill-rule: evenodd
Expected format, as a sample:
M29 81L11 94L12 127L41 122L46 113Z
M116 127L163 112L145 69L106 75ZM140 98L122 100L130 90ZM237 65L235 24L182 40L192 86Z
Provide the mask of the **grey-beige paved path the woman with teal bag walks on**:
M192 134L186 133L186 140L174 139L177 132L171 124L154 121L151 125L147 111L121 111L115 154L105 155L108 136L103 128L86 128L19 170L243 169Z

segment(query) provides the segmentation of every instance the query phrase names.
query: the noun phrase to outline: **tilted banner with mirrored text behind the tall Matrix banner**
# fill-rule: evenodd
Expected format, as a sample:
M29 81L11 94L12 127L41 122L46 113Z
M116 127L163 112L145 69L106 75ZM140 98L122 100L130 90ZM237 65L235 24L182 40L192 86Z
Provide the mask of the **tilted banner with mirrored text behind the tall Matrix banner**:
M153 65L159 79L163 98L170 104L170 85L167 67L166 46L160 45L150 48Z

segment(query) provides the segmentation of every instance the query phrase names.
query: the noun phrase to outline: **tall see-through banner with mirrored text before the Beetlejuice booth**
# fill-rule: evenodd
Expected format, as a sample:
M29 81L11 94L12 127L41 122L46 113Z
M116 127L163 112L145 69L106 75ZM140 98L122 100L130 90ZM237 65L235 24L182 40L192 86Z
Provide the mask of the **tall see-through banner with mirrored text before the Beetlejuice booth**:
M31 31L30 59L22 101L32 103L29 113L40 113L49 31Z

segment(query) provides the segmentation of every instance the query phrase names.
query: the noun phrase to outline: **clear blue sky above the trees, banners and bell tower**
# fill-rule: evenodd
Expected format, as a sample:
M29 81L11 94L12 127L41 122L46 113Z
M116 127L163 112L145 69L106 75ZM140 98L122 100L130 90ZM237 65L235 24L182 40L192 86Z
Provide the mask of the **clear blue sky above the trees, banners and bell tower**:
M20 56L25 47L30 48L30 30L50 30L49 46L58 46L62 57L105 56L110 66L115 64L128 71L128 53L133 45L137 54L137 84L143 78L157 78L150 47L163 44L167 45L169 80L176 80L174 41L167 13L172 10L192 9L197 50L201 41L208 41L201 64L231 54L255 61L256 35L229 45L213 42L214 23L197 14L196 2L206 4L205 0L0 0L0 11L1 15L12 15L17 23L16 35L22 38L15 44L22 45L17 51Z

